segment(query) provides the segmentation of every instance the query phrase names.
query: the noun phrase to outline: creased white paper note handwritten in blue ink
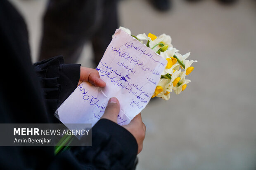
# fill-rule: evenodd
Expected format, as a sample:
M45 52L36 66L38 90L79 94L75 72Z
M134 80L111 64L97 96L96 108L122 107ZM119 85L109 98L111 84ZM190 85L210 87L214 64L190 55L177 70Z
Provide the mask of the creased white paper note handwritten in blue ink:
M62 123L92 123L104 114L109 98L120 102L117 123L128 124L146 107L158 84L166 60L117 29L96 70L106 86L80 84L57 109Z

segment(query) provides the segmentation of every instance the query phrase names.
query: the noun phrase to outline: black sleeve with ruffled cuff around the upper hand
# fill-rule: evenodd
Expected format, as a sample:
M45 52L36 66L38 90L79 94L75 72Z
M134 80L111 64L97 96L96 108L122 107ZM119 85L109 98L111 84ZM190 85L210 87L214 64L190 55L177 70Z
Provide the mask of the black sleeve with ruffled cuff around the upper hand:
M64 64L63 57L57 56L33 64L43 87L48 113L56 109L76 89L80 78L80 64Z

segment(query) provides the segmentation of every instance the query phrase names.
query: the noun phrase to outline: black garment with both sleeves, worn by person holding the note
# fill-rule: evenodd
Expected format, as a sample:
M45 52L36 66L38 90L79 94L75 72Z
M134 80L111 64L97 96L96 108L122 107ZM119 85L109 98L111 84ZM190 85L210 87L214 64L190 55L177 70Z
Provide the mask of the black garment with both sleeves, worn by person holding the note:
M0 42L0 123L58 122L54 111L76 88L80 65L60 56L32 65L26 25L7 0L0 0ZM0 147L0 169L128 170L136 154L133 135L102 119L92 128L92 147L57 156L54 147Z

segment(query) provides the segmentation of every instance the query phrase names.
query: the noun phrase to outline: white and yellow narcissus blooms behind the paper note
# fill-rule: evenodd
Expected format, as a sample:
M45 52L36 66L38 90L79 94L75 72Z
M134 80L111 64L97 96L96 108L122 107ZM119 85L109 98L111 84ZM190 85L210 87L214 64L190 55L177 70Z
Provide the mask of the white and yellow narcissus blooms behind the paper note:
M127 28L120 27L126 33L131 35L131 32ZM185 79L186 75L189 75L193 70L192 63L197 62L194 60L187 60L190 53L182 55L179 50L173 47L171 44L171 37L166 34L156 36L149 33L139 34L137 36L131 35L137 40L143 43L143 40L147 41L145 46L151 48L160 56L167 60L167 65L164 71L161 73L161 79L156 86L154 97L159 97L164 100L169 100L170 94L174 91L176 94L180 94L187 87L187 84L191 82L189 79Z

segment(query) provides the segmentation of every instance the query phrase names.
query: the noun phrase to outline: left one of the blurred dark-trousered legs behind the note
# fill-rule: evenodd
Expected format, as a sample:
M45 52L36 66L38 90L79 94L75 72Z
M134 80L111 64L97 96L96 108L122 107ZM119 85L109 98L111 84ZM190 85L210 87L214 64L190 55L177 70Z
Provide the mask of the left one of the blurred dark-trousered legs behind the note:
M100 24L100 0L49 0L43 18L39 60L63 55L75 63Z

